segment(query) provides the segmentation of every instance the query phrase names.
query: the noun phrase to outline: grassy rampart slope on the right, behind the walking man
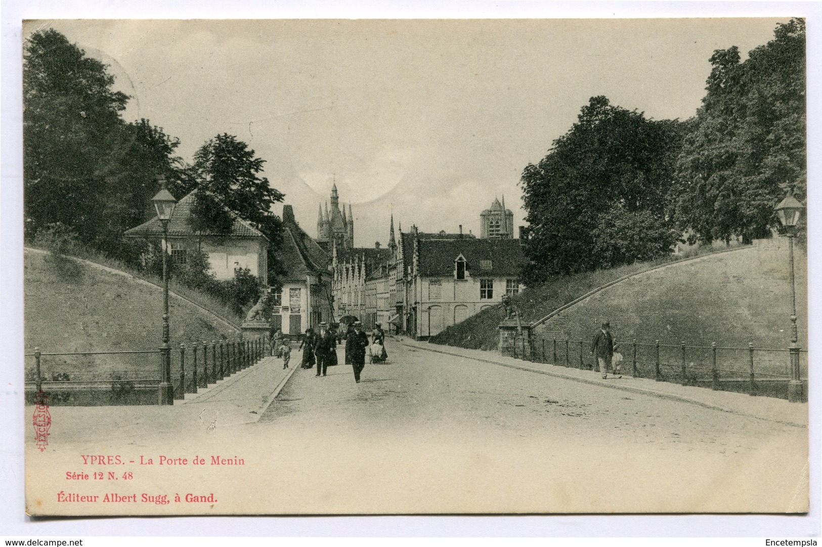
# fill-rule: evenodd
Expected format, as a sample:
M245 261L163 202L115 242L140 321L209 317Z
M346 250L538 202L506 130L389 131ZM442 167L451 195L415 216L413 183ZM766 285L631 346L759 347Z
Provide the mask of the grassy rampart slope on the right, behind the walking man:
M806 346L805 257L797 253L797 313L800 344ZM534 321L580 295L648 265L595 271L553 280L525 290L515 300L524 319ZM547 322L540 336L588 341L598 321L608 318L615 336L665 344L784 348L790 328L787 251L750 248L666 267L622 281ZM433 342L491 350L501 308L450 327Z

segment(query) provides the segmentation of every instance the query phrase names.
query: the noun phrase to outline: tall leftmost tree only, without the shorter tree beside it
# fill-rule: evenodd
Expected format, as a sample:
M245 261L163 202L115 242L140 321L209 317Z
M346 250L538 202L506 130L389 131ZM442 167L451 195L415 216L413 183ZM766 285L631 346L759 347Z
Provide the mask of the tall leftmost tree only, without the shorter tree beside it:
M105 198L100 179L116 164L120 112L127 95L112 90L106 66L42 30L25 44L23 177L27 226L61 222L81 239L95 234Z

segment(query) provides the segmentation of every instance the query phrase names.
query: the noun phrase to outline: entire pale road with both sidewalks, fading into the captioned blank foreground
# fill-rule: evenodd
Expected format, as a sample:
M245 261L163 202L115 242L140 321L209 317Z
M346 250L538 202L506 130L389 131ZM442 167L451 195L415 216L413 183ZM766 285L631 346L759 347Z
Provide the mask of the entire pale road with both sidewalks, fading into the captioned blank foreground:
M111 471L85 468L78 455L115 454L136 462L161 455L242 460L124 466L134 474L133 484L120 485L124 494L150 488L219 499L207 508L137 504L129 508L134 514L807 508L807 405L633 378L607 381L636 387L623 391L587 371L535 373L510 367L550 365L423 347L457 351L390 339L389 362L367 364L360 383L344 364L326 378L298 369L284 382L291 371L266 358L186 404L54 406L48 451L26 452L27 475L39 477L27 485L30 499L51 500L65 488L66 471ZM292 366L298 363L294 351ZM702 397L713 407L650 396L651 388ZM25 409L26 442L32 408ZM75 486L85 494L110 488ZM79 514L73 505L48 511Z

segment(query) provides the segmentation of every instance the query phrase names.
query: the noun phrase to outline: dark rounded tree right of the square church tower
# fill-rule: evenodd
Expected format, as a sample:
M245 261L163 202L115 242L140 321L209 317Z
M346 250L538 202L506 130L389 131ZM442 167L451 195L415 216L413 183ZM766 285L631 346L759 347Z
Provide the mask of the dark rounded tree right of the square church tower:
M677 240L665 211L681 133L676 120L649 120L592 97L548 155L524 169L524 280L667 253Z

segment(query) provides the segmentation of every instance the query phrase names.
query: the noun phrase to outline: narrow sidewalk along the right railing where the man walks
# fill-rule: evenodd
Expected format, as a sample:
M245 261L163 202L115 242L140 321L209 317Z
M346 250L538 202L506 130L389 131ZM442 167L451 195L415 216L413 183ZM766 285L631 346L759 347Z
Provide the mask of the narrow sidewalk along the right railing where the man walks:
M647 396L661 397L680 401L690 405L721 410L732 414L758 418L795 427L808 427L807 403L791 403L774 397L750 396L745 393L720 392L704 387L681 386L672 382L656 382L649 378L633 378L623 374L621 378L608 375L606 380L590 370L570 369L553 364L532 363L499 355L492 351L466 350L450 345L437 345L428 342L413 341L404 336L395 336L395 340L418 350L433 351L445 355L454 355L466 359L475 359L485 363L498 364L511 369L527 370L533 373L546 374L554 378L564 378L574 382L583 382L598 387L609 387L625 392L639 393Z

